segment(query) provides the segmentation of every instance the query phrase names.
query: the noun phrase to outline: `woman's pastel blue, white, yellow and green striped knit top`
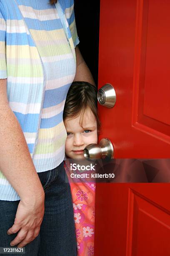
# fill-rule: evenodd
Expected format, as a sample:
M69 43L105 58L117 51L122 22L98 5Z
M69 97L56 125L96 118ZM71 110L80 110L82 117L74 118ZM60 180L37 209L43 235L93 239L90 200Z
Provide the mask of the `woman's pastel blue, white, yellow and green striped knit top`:
M67 133L62 120L79 43L73 0L0 0L0 79L37 172L58 166ZM0 200L19 200L0 172Z

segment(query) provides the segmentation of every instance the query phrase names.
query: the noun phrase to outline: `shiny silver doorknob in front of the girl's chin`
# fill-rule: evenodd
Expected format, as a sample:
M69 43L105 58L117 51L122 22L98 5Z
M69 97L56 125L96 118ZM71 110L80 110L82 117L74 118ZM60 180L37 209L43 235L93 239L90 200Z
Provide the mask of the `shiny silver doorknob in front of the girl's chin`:
M102 138L99 145L92 143L85 147L84 157L87 160L113 159L113 145L108 138Z

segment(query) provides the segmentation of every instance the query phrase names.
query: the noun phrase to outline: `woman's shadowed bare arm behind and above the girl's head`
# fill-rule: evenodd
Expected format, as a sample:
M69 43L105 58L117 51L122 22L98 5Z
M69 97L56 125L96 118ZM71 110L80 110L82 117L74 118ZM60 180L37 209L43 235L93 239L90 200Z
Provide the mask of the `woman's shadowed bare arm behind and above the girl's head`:
M76 73L75 73L75 81L84 81L89 82L90 84L95 85L95 81L92 77L90 69L87 67L78 46L75 47L75 55L76 55Z

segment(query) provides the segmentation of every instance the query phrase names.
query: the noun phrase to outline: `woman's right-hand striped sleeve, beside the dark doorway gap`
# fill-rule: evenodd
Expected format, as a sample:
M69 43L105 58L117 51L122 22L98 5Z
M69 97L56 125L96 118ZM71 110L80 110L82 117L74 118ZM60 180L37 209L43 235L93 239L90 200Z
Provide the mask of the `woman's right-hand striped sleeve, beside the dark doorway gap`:
M69 4L67 3L66 9L65 9L65 15L70 28L70 32L72 34L72 40L73 40L74 46L77 46L77 44L79 44L79 38L77 35L77 28L75 24L74 0L67 0L67 2L69 2Z

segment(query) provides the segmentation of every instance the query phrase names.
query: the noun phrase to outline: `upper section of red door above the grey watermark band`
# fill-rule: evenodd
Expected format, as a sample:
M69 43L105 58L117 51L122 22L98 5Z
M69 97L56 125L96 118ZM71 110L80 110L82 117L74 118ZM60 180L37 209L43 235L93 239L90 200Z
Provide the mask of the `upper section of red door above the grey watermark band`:
M112 84L117 101L99 106L99 139L115 158L170 157L169 11L168 0L101 0L99 88Z

